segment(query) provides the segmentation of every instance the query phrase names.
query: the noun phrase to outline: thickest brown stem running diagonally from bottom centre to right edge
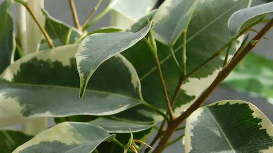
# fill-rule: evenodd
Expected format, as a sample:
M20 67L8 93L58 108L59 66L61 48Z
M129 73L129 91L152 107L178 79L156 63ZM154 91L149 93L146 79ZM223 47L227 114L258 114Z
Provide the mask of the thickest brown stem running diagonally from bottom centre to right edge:
M181 123L183 123L186 118L188 118L196 109L198 109L207 98L211 95L211 93L218 87L218 85L231 73L231 71L235 68L236 65L257 45L261 38L272 28L273 19L271 19L261 30L260 32L252 38L252 40L245 46L245 48L234 57L227 65L225 65L222 70L218 73L216 79L212 82L212 84L200 95L200 97L194 102L190 108L183 114L181 114L176 119L169 121L167 130L165 131L162 139L154 150L154 153L161 153L168 144L168 141L171 138L171 135L174 131L179 127Z

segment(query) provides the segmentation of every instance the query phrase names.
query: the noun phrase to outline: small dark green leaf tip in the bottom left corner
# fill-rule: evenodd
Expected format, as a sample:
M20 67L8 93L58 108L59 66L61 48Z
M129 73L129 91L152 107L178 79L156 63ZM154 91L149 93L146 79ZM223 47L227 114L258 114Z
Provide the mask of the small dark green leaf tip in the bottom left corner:
M32 136L25 135L19 131L2 130L0 131L0 152L12 152L31 138Z

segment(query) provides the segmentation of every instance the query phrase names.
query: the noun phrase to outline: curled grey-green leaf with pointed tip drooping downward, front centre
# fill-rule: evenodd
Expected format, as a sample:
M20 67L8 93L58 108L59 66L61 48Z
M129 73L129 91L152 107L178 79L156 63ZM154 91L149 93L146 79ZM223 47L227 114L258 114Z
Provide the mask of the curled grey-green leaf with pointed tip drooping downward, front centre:
M149 23L136 33L96 33L82 40L76 53L80 76L80 98L83 97L87 83L96 69L107 59L142 40L150 31L152 24L153 22Z

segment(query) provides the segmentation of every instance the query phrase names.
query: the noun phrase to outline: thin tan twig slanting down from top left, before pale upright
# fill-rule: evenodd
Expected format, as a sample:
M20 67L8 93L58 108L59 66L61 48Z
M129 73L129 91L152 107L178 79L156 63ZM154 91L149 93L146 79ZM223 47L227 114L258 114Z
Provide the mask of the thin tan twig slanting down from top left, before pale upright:
M45 29L43 28L43 26L39 23L38 19L35 17L35 15L33 14L32 10L30 9L29 5L21 0L15 0L16 2L20 3L21 5L23 5L26 10L28 11L28 13L30 14L30 16L33 18L34 22L37 24L37 26L39 27L40 31L42 32L45 40L48 42L49 46L51 48L54 48L54 44L52 39L50 38L49 34L47 31L45 31Z

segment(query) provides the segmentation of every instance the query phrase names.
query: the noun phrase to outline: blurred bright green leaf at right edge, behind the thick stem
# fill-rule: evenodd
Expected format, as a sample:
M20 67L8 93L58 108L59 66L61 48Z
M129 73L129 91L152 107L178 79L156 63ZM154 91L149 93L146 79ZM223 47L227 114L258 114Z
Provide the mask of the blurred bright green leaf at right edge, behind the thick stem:
M253 97L262 97L273 104L273 61L250 53L232 71L224 85Z

